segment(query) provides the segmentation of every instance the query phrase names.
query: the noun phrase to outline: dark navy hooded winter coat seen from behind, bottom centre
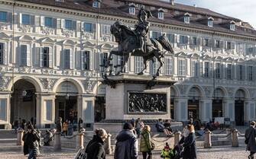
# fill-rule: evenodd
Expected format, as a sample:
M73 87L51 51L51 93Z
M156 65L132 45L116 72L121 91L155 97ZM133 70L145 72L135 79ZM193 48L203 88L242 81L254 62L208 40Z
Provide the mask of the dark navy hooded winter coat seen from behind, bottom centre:
M138 159L138 141L130 130L122 130L116 137L115 159Z

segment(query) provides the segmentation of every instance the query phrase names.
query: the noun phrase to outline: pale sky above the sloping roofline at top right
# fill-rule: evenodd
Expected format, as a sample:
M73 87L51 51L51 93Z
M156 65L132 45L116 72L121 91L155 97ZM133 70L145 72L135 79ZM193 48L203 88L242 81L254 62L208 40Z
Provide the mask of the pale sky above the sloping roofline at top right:
M184 5L196 5L246 21L256 28L256 0L175 0Z

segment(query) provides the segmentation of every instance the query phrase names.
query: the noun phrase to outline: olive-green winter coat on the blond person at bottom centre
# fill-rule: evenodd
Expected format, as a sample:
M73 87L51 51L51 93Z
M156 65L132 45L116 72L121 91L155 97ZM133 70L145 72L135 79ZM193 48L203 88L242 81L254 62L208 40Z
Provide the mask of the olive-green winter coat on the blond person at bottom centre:
M151 145L151 132L147 130L143 130L141 132L141 144L140 144L140 151L141 152L148 152L152 150Z

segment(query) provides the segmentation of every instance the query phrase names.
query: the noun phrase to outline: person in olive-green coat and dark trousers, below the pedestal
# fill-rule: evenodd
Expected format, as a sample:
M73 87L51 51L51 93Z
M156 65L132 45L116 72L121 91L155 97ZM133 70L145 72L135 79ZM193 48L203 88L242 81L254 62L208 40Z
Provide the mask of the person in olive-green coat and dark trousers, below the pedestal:
M146 125L141 132L140 151L143 159L152 159L152 150L154 149L153 142L151 142L151 127Z

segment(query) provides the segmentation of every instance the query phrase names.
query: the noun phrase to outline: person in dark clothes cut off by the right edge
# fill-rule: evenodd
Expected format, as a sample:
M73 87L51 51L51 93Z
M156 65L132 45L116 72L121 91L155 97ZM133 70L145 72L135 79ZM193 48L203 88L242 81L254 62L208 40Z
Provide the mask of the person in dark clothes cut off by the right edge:
M245 144L247 145L246 146L246 150L250 151L248 159L253 159L254 158L254 154L256 152L255 137L256 137L255 122L252 121L250 123L250 127L245 130Z

